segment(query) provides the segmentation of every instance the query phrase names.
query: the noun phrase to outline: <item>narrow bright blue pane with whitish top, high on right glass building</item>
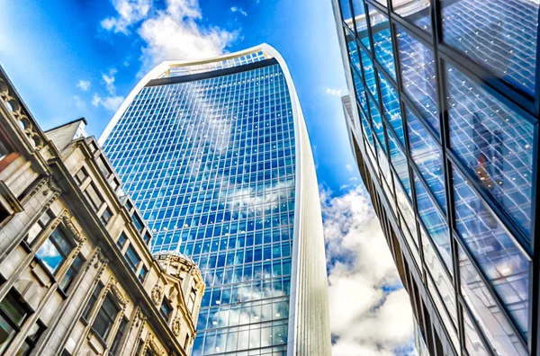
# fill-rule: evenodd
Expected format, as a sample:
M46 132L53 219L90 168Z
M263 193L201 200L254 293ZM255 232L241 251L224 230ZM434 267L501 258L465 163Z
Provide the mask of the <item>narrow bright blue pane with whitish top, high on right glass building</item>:
M375 58L396 79L396 69L393 59L392 35L388 18L375 10L374 6L368 5L369 22L374 40Z

